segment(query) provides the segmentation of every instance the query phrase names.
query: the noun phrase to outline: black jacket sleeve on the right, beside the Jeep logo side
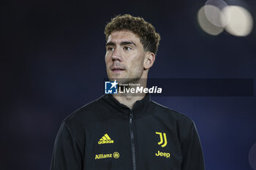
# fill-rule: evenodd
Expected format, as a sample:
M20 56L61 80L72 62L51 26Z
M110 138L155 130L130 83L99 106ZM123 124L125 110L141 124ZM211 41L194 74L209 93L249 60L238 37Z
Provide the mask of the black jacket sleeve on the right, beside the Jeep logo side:
M205 169L203 151L195 123L192 123L187 139L181 144L181 152L183 157L181 164L182 170Z

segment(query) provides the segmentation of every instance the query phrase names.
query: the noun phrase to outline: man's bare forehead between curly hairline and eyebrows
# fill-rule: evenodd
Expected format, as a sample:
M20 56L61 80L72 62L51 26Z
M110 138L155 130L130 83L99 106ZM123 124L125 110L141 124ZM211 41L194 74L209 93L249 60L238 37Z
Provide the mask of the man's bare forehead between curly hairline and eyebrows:
M140 42L139 36L132 31L113 31L109 36L107 42Z

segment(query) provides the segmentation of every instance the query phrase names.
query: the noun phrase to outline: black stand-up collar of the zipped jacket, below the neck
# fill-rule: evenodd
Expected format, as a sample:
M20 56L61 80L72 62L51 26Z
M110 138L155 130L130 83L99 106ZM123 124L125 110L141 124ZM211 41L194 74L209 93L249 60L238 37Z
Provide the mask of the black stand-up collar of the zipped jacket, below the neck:
M129 109L129 107L127 107L126 105L121 104L111 94L105 94L104 96L102 96L102 100L109 105L111 111L125 118L129 118L130 111L132 111L132 115L134 118L139 118L143 117L143 115L147 115L151 103L151 97L149 93L146 93L146 96L144 96L144 98L140 101L136 101L132 109Z

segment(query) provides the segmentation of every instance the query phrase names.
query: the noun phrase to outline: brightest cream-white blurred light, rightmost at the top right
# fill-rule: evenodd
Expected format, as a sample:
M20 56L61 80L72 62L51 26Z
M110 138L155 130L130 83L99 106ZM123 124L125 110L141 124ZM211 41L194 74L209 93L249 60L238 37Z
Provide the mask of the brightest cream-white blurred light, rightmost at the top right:
M226 20L229 18L225 30L234 36L247 36L251 33L253 27L252 15L243 7L229 6L223 9ZM224 21L225 22L225 21Z

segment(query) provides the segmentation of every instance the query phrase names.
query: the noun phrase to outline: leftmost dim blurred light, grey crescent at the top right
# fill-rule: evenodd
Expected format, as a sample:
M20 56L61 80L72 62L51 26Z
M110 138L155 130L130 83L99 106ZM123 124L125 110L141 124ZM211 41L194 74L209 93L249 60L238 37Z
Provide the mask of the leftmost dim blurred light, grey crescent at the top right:
M212 7L211 11L219 10L217 7L214 7L214 6L211 6L211 7ZM206 33L210 35L216 36L222 33L222 31L224 30L224 28L214 26L214 24L208 20L208 18L206 17L205 7L201 7L200 10L198 11L197 20L198 20L199 26L203 29L203 31L206 31Z

